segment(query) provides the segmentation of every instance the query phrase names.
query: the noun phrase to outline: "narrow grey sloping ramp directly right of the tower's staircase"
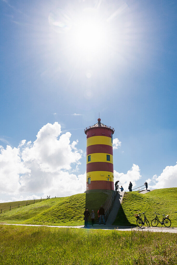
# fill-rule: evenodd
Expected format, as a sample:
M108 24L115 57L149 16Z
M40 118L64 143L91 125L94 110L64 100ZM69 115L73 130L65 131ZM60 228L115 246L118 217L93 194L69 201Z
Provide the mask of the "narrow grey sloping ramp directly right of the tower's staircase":
M120 191L120 193L118 193L118 195L116 196L113 208L107 218L106 225L111 225L114 223L114 220L120 208L120 204L122 203L124 193L125 193L124 191L122 192Z

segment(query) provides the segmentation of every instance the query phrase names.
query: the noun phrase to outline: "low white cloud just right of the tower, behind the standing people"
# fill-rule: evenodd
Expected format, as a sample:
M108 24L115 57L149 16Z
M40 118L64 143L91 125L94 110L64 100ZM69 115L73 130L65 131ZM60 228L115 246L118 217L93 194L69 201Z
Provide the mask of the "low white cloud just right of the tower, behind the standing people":
M119 187L120 185L123 186L124 191L128 190L129 182L131 181L133 188L136 187L136 181L141 178L140 169L138 165L133 164L132 168L127 171L126 174L118 173L114 170L114 182L119 180Z

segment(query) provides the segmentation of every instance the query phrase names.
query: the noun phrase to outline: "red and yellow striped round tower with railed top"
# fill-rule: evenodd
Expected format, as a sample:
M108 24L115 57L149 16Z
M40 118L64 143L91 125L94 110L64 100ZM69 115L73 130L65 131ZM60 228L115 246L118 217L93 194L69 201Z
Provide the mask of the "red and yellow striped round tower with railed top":
M95 189L114 190L113 133L114 128L98 123L85 128L87 135L86 192Z

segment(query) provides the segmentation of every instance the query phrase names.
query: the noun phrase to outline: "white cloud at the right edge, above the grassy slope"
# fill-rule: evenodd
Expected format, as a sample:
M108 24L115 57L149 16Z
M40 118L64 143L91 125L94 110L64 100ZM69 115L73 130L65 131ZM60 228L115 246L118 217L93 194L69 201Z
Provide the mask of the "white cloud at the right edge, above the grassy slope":
M160 176L154 175L147 182L150 183L149 187L153 189L177 187L177 164L166 166Z

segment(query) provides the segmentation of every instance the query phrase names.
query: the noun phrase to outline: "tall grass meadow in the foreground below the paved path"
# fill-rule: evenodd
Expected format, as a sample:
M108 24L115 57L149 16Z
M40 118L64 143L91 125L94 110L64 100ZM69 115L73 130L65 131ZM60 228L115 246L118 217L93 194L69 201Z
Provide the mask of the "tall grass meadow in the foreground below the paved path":
M172 233L0 225L0 264L177 264Z

